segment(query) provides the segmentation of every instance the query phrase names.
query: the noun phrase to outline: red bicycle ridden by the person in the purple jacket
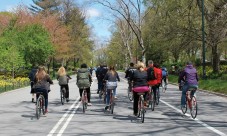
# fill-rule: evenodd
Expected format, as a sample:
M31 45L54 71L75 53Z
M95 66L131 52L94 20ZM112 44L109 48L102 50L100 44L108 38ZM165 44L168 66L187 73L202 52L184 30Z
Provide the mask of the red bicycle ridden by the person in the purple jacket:
M197 116L198 104L197 104L195 95L192 96L191 94L192 94L192 92L195 93L196 90L197 90L197 88L188 89L188 91L186 92L186 106L181 107L183 114L185 114L187 112L187 109L189 108L191 117L193 119L195 119Z

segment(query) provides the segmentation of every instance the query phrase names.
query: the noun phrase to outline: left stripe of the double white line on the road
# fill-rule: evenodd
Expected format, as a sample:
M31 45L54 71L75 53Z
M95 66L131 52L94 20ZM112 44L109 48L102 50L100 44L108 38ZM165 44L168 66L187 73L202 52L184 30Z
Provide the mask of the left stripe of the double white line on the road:
M67 112L61 117L61 119L58 121L58 123L53 127L53 129L49 132L47 136L52 136L55 131L58 129L58 127L61 125L61 123L64 121L66 116L69 114L69 112L72 110L73 107L75 107L76 103L79 101L79 98L71 105L71 107L67 110Z

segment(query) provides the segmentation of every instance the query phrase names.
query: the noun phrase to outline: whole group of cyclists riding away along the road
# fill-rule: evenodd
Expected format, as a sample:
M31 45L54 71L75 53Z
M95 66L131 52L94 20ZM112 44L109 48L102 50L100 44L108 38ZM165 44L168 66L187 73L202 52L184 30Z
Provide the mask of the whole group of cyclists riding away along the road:
M113 95L117 99L116 88L117 82L120 81L119 75L115 70L114 66L109 66L103 64L96 69L96 77L98 81L98 90L104 89L106 86L106 105L105 110L108 109L110 101L110 91L113 90ZM50 76L45 71L45 68L40 66L37 69L33 69L29 74L31 80L31 93L43 92L45 98L45 113L48 112L48 92L50 91L50 84L53 84ZM128 79L129 87L133 91L133 113L135 116L138 114L138 99L139 96L137 93L145 93L144 98L147 95L147 92L154 92L154 99L158 99L160 94L156 96L156 91L159 92L159 87L164 81L167 84L168 72L166 68L161 68L158 64L154 64L152 60L148 61L148 67L143 62L138 62L136 65L130 63L130 67L125 71L125 78ZM69 86L68 82L71 77L67 75L65 68L62 66L58 70L57 80L59 81L60 87L65 87L66 89L66 100L69 101ZM179 82L184 81L184 86L182 89L181 96L181 106L185 106L185 97L186 92L190 87L198 87L198 75L196 69L193 67L191 62L188 62L185 69L182 70L179 76ZM83 89L87 90L88 96L88 106L91 106L90 103L90 86L92 83L91 73L86 64L82 64L80 69L77 72L77 81L76 84L79 88L80 97L82 97ZM180 84L179 84L180 85ZM38 96L36 96L38 97ZM80 99L81 100L81 99ZM34 97L32 97L34 102ZM145 103L146 105L146 103Z

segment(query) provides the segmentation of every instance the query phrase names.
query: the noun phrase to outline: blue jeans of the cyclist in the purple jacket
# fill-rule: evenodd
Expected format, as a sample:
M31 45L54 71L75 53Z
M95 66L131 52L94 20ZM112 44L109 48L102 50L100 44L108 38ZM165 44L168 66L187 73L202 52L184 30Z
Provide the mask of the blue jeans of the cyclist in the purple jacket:
M186 92L189 88L198 88L198 85L190 85L188 83L185 83L182 89L182 95L181 95L181 106L186 105ZM191 92L191 96L195 94L195 91Z

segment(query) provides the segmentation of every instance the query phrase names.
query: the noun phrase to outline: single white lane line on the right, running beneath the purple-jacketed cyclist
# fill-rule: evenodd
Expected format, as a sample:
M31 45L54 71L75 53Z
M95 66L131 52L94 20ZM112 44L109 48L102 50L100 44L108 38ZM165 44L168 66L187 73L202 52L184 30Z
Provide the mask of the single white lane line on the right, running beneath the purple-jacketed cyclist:
M167 102L165 102L165 101L163 101L163 100L160 100L160 101L163 102L165 105L169 106L170 108L172 108L172 109L174 109L174 110L176 110L176 111L182 113L181 110L175 108L174 106L170 105L169 103L167 103ZM220 136L227 136L225 133L223 133L223 132L221 132L221 131L219 131L219 130L217 130L217 129L215 129L215 128L209 126L209 125L207 125L206 123L200 121L199 119L197 119L197 118L193 119L193 118L191 117L191 115L189 115L189 114L187 114L187 113L186 113L185 115L186 115L187 117L190 117L192 120L196 121L197 123L201 124L202 126L206 127L207 129L210 129L211 131L215 132L216 134L218 134L218 135L220 135Z

